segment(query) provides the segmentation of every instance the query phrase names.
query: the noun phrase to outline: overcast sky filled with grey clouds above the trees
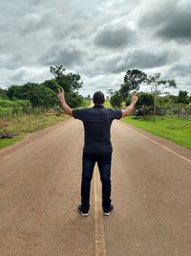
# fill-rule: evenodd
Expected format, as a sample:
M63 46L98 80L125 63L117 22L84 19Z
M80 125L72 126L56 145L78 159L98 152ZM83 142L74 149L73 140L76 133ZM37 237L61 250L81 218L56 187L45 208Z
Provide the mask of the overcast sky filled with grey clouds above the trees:
M84 96L117 89L128 69L191 93L190 24L190 0L0 0L0 86L51 79L62 64Z

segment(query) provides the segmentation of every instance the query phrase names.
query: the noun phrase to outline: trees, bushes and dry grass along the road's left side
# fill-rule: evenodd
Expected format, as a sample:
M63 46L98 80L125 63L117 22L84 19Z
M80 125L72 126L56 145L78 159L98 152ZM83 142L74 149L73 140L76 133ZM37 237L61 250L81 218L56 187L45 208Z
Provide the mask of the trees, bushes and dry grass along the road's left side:
M52 80L0 88L0 149L66 119L57 99L58 89L64 89L66 101L73 108L90 104L78 93L83 84L80 75L65 71L62 65L51 66Z

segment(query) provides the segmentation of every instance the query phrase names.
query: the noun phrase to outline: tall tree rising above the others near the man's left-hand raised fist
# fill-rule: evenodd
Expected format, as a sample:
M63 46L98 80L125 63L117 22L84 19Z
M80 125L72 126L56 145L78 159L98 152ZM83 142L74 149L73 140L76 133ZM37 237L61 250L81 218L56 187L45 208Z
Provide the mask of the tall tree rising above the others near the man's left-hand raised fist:
M74 73L65 74L65 71L66 69L62 65L50 67L54 80L57 81L66 93L79 90L83 84L83 81L80 81L80 75Z

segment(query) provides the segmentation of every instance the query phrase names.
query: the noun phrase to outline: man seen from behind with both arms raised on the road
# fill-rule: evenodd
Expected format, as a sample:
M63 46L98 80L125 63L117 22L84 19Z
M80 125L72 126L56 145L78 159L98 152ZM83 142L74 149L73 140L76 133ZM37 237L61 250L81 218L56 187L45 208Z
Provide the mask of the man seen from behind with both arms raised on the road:
M72 109L67 105L64 91L59 90L58 99L67 115L79 119L84 125L84 148L82 157L81 204L77 210L82 216L88 216L90 209L91 180L97 162L102 183L102 208L104 215L110 215L114 210L111 203L111 163L112 144L110 128L114 119L130 114L137 101L137 93L133 93L132 101L125 109L111 109L103 106L104 94L97 91L93 96L93 107Z

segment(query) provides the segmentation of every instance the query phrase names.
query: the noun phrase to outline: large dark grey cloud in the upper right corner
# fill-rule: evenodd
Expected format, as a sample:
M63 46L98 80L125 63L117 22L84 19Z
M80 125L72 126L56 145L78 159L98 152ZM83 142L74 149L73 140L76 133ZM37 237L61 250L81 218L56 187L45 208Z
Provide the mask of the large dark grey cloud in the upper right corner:
M189 41L191 38L190 8L189 1L187 3L178 0L161 1L159 6L147 9L140 16L138 25L141 28L152 28L154 35L166 40Z

